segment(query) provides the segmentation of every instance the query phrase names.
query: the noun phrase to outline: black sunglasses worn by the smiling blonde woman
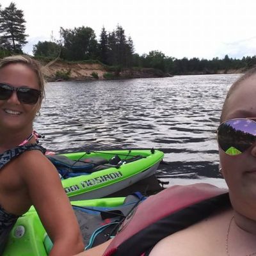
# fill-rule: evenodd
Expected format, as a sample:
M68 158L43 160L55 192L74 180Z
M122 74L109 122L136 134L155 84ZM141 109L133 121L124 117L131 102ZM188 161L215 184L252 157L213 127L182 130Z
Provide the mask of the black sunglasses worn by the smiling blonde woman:
M41 91L28 88L28 87L19 87L15 88L9 84L0 83L0 100L8 100L12 96L12 93L16 91L17 98L20 103L24 104L36 104L39 97L41 96Z

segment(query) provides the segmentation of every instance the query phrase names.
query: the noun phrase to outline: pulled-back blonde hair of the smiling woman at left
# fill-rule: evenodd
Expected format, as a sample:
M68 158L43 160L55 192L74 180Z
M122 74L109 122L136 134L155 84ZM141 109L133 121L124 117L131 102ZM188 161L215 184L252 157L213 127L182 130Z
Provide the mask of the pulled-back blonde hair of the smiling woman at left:
M42 92L43 97L45 97L45 81L42 73L42 66L40 65L40 63L36 60L33 60L28 55L15 55L5 57L2 60L0 60L0 69L6 67L7 65L15 63L24 64L35 72L36 77L38 78L40 90Z

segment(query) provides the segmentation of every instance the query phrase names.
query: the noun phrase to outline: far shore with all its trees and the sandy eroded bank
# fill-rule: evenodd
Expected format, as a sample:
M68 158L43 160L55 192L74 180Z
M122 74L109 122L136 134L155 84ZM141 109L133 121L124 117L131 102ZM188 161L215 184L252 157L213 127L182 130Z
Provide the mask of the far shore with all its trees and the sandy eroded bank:
M26 54L26 20L15 3L0 4L0 58ZM154 35L152 35L154 36ZM47 81L131 79L198 74L243 73L256 65L256 56L223 59L177 59L161 51L135 52L131 36L118 24L113 31L102 27L100 35L88 26L60 28L59 39L33 45L33 58L44 66Z

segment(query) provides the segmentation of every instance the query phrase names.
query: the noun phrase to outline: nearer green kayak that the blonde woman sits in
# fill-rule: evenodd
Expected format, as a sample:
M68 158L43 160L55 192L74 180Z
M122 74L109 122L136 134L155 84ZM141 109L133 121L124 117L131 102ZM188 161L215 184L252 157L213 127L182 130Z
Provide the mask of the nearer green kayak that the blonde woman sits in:
M71 202L74 205L73 208L80 224L86 248L104 243L106 234L111 233L111 230L116 230L116 223L120 223L120 212L127 216L138 202L141 202L141 199L145 198L127 196L126 198L100 198ZM118 209L118 216L109 217L109 215L106 215L113 214L112 212L115 212L116 209ZM106 217L104 217L104 214ZM108 218L108 221L105 221L106 218ZM95 229L97 230L97 237L95 237ZM47 236L34 207L31 207L15 223L3 256L46 256L51 248L51 239Z

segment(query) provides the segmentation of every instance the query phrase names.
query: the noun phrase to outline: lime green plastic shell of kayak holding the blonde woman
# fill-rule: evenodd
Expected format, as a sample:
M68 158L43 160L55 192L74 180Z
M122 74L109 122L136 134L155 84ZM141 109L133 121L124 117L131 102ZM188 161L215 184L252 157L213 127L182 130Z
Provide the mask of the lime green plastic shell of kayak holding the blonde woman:
M97 207L103 207L104 209L111 210L113 207L120 207L120 205L125 206L136 203L134 198L132 198L132 202L130 200L130 202L127 203L127 201L125 201L127 198L100 198L76 201L72 202L72 204L75 203L76 207L95 207L96 209L98 209ZM91 220L92 218L90 217L89 222ZM85 237L88 237L88 234L86 234ZM15 223L9 235L3 256L46 256L51 251L51 247L51 240L47 236L34 207L31 207L31 209Z

